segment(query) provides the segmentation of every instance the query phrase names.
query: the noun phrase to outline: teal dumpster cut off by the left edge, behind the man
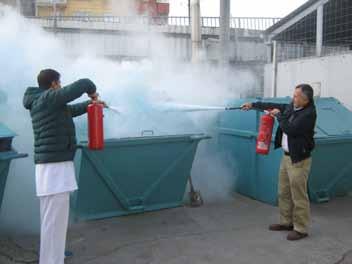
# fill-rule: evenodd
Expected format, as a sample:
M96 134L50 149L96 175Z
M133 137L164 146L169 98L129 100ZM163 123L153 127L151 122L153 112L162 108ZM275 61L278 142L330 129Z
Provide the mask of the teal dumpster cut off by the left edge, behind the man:
M26 154L19 154L12 148L12 140L15 136L13 131L0 123L0 208L11 160L27 157Z

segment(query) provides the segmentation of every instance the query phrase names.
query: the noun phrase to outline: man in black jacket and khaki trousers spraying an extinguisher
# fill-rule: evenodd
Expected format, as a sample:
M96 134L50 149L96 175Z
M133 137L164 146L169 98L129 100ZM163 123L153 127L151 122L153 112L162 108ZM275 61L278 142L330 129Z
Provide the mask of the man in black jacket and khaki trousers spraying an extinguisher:
M280 224L271 225L269 229L291 231L288 240L308 236L310 206L307 182L317 118L313 96L312 87L301 84L296 87L291 104L255 102L242 106L243 110L269 111L279 122L275 148L282 147L285 152L279 173Z

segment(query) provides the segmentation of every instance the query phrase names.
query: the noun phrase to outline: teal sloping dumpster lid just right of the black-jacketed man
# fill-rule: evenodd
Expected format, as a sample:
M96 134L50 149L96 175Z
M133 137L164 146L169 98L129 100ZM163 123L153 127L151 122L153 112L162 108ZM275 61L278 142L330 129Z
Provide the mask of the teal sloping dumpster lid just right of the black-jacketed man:
M352 113L335 98L316 100L316 137L352 136Z

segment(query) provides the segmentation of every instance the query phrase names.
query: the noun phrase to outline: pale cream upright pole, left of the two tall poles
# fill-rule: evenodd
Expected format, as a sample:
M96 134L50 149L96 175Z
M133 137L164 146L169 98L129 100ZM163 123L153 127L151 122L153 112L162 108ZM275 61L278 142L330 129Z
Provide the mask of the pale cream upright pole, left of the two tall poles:
M202 49L202 26L199 0L191 0L192 63L200 62Z

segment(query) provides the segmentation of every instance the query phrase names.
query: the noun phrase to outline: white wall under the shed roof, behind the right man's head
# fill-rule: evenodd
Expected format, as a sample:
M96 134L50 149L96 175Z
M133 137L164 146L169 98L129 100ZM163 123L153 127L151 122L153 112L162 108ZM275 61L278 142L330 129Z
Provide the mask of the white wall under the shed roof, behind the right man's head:
M291 96L295 85L312 84L323 97L336 97L352 109L352 53L278 64L277 95ZM272 92L272 65L264 69L264 95Z

